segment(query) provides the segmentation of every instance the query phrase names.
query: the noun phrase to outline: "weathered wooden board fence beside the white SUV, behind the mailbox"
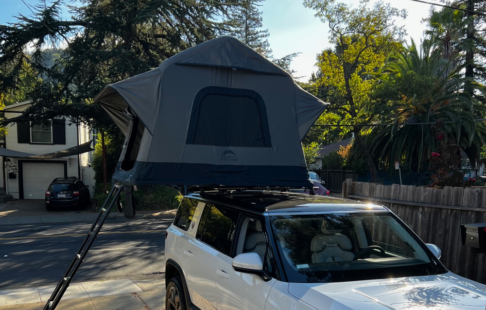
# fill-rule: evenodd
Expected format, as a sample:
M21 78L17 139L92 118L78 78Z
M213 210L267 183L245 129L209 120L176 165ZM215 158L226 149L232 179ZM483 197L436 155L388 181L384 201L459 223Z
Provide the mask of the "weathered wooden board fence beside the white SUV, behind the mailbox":
M415 185L342 184L343 198L369 201L390 208L426 243L442 250L440 259L459 276L486 284L486 254L474 254L461 242L461 224L486 223L486 189Z

